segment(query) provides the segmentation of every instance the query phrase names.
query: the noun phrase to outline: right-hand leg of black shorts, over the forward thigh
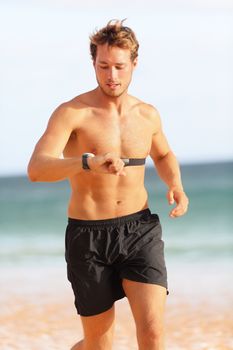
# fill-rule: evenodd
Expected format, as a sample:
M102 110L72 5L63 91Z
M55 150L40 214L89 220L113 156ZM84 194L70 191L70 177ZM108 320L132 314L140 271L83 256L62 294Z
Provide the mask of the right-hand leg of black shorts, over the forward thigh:
M122 279L168 288L162 227L157 214L148 214L129 225L122 245L126 253L117 265Z

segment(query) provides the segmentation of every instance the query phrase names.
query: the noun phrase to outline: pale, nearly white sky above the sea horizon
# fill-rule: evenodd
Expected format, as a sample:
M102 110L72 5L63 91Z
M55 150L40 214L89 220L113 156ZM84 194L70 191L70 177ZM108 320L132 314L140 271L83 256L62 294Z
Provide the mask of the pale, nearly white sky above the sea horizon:
M0 0L0 176L26 174L53 110L97 86L89 35L115 18L140 43L129 93L178 161L233 159L233 1Z

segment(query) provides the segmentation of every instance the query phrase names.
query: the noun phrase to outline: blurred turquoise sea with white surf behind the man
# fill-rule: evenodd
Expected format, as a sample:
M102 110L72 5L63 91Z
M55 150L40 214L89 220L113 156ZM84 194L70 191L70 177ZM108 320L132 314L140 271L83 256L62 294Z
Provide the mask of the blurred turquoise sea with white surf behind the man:
M163 228L170 264L225 261L233 266L233 162L181 165L188 213L171 219L166 186L146 167L149 206ZM0 177L1 266L64 264L68 181Z

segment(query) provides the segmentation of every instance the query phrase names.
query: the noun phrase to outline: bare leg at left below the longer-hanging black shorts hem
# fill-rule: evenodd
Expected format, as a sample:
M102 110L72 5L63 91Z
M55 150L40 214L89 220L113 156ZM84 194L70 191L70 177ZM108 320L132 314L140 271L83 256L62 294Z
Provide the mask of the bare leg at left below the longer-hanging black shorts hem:
M111 309L95 316L81 316L84 339L71 350L110 350L114 332L114 305Z

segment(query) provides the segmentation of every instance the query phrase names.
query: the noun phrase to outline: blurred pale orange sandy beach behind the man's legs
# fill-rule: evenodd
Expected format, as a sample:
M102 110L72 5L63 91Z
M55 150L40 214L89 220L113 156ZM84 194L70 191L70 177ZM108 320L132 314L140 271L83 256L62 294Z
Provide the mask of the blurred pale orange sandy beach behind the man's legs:
M177 266L174 271L178 271ZM209 272L208 279L200 279L200 288L194 291L190 283L180 287L188 269L182 276L174 271L166 307L166 349L233 349L232 287L224 288L222 284L228 272L219 276L214 286L213 269L213 276ZM192 280L195 278L193 275ZM6 267L1 269L0 282L1 350L68 350L81 339L82 327L66 280L65 264L49 268ZM203 294L205 284L209 288ZM127 299L115 305L113 349L136 350L135 326Z

